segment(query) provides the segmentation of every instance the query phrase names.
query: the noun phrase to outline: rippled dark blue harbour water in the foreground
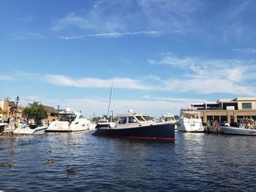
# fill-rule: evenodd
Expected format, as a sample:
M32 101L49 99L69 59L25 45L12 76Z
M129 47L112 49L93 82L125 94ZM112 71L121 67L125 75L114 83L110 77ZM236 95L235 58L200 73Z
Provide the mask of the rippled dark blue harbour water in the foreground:
M95 137L91 131L4 136L0 162L12 160L12 166L0 167L0 190L255 191L255 146L256 137L178 131L175 142ZM67 165L77 172L68 173Z

